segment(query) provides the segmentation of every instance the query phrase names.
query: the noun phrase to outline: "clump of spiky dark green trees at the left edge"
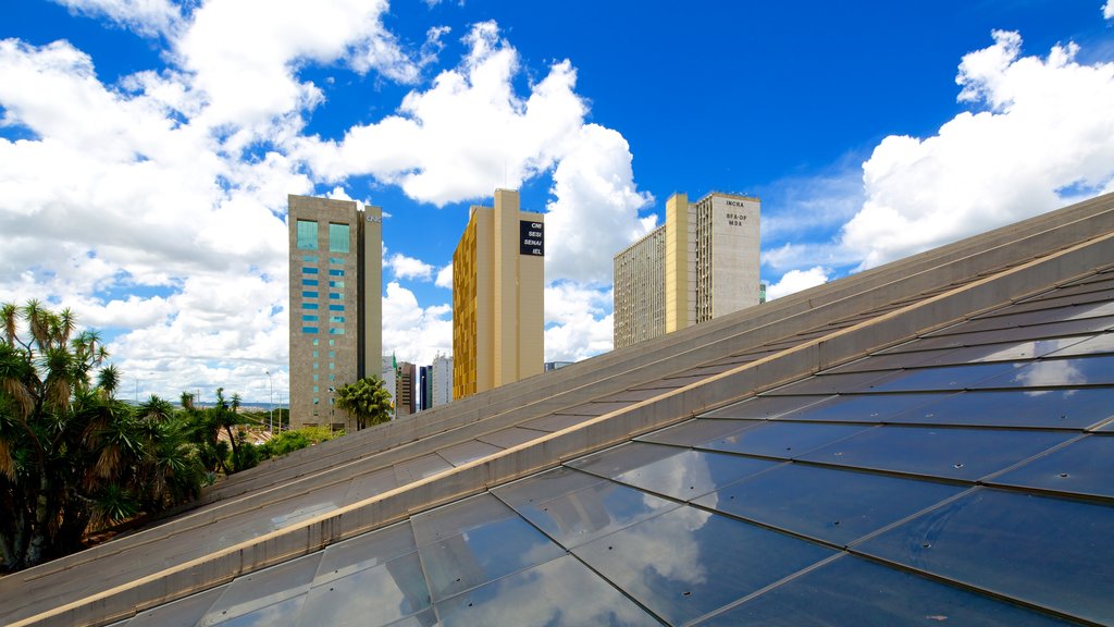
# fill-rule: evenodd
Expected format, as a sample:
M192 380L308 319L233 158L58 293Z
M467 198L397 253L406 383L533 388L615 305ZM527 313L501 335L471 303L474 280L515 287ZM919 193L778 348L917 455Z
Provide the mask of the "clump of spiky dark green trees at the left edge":
M23 568L89 530L193 498L201 466L185 423L155 397L115 398L119 373L69 310L0 306L0 553ZM100 368L97 384L90 382Z

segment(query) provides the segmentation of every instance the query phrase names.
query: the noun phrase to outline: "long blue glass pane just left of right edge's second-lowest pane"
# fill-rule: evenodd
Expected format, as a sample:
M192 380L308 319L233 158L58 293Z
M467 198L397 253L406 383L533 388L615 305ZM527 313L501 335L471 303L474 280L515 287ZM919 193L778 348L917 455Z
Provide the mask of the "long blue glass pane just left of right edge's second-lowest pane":
M1069 432L881 426L801 459L975 481L1076 437Z

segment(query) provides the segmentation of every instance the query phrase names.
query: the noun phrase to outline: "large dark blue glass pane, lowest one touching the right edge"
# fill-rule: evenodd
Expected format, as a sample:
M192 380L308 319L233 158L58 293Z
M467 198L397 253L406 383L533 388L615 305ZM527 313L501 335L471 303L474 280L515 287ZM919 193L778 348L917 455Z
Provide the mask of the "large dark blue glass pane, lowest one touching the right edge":
M856 547L1095 623L1114 623L1114 509L976 489Z

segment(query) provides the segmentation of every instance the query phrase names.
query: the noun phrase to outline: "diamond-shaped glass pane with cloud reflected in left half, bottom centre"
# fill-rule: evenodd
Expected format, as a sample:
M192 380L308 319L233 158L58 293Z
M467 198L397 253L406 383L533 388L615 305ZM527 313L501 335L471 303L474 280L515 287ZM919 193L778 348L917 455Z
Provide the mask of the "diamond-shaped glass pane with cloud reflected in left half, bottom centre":
M573 552L676 625L769 586L833 551L682 507Z

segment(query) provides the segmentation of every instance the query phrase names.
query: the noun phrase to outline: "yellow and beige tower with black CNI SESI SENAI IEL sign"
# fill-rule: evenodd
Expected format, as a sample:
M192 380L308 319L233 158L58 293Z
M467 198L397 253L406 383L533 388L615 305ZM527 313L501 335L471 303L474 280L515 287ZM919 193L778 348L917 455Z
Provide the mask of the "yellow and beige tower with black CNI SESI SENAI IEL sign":
M541 373L544 229L514 190L472 206L452 254L453 398Z

